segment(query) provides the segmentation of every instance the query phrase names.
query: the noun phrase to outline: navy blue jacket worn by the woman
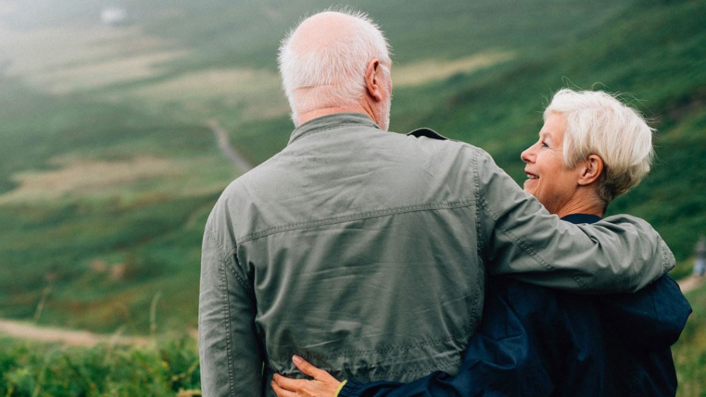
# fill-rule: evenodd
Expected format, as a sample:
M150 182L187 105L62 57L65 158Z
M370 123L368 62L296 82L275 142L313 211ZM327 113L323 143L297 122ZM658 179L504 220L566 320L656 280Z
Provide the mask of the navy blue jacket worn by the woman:
M674 396L670 346L690 313L669 275L633 294L601 296L491 278L481 327L456 376L349 380L339 396Z

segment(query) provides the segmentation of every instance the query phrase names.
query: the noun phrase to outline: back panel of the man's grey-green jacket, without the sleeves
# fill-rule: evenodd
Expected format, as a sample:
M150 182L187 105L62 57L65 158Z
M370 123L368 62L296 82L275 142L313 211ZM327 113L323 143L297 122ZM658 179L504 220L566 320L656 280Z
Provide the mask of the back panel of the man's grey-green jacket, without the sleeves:
M340 114L227 189L208 227L253 289L266 372L295 353L357 379L455 372L484 282L469 153Z

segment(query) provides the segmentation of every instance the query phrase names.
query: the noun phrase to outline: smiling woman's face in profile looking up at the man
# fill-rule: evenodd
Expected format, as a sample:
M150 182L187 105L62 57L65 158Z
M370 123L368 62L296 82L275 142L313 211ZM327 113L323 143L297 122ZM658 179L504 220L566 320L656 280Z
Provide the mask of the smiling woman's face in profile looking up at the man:
M573 198L579 177L577 170L566 170L563 166L564 131L566 117L549 114L539 131L539 141L520 155L526 164L525 191L537 197L547 211L559 215Z

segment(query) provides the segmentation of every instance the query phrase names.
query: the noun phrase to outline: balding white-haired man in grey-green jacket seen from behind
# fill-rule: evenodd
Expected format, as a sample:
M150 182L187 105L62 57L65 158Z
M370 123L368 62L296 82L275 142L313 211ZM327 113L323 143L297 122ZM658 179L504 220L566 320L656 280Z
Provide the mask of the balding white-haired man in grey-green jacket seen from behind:
M642 220L563 222L483 150L385 132L390 69L362 15L316 14L282 43L296 128L228 186L203 237L205 396L273 396L275 372L297 374L295 354L361 381L453 374L486 272L618 291L674 266Z

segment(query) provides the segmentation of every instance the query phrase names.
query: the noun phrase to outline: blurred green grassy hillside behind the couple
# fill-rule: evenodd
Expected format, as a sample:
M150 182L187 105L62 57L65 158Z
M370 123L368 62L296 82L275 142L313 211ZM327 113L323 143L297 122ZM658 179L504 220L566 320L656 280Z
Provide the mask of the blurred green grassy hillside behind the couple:
M284 147L292 124L277 45L329 3L120 4L128 18L119 25L100 23L104 4L91 0L0 8L0 317L148 334L156 302L157 333L179 339L196 328L205 219L239 175L207 122L224 126L253 164ZM481 146L518 181L519 153L536 138L551 93L570 86L637 98L657 128L657 161L609 211L650 221L677 257L673 275L688 275L706 235L702 1L350 4L371 13L393 45L392 129L429 126ZM705 295L688 298L703 307ZM699 313L675 348L683 396L706 390ZM3 360L63 351L0 345Z

